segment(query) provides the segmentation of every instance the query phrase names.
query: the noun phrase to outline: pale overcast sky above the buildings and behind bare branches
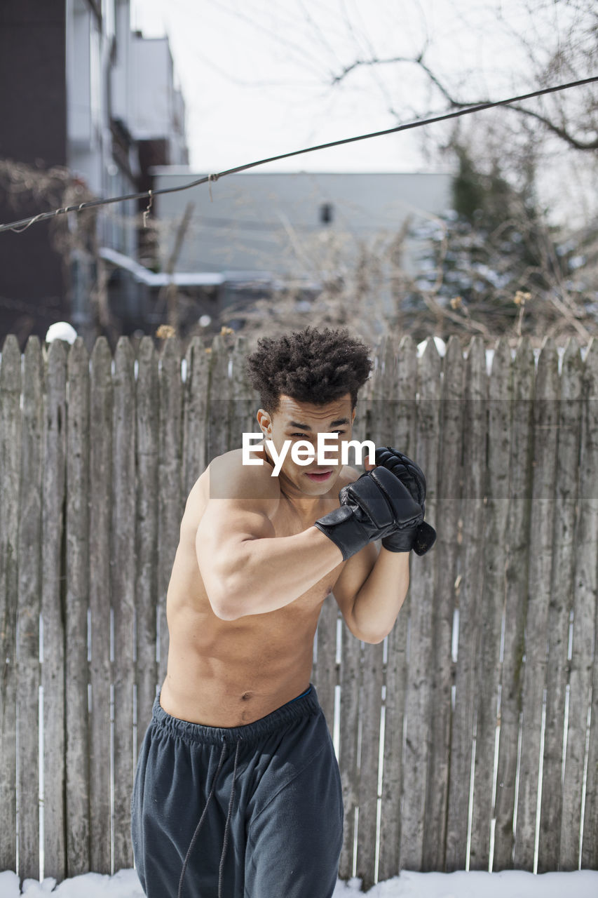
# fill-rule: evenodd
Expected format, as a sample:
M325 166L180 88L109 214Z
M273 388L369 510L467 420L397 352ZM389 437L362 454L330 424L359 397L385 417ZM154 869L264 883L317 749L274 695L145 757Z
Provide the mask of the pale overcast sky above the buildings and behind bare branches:
M551 55L567 44L576 14L589 8L576 0L132 0L132 23L147 37L169 34L188 110L191 167L221 172L446 110L412 64L361 66L334 84L356 59L425 50L427 65L458 101L535 90ZM571 31L575 40L579 33ZM572 78L590 74L583 68L576 75L574 61L566 70ZM558 119L559 102L575 110L581 100L569 91L530 102ZM513 152L516 170L514 147L525 140L521 117L504 109L462 121L483 154L492 116L507 126L494 139L505 155ZM445 126L427 126L261 171L443 172L438 145L446 135ZM594 216L591 155L572 152L557 137L543 140L538 187L554 220Z

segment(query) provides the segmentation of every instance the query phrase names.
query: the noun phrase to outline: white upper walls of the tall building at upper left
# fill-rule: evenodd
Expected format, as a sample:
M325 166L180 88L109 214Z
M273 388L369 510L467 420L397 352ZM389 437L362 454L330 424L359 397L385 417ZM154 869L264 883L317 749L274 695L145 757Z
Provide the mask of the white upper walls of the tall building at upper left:
M185 105L175 84L168 38L130 30L129 0L66 0L66 95L69 163L98 195L126 188L141 174L138 144L163 143L164 164L186 164ZM113 153L116 128L126 158Z

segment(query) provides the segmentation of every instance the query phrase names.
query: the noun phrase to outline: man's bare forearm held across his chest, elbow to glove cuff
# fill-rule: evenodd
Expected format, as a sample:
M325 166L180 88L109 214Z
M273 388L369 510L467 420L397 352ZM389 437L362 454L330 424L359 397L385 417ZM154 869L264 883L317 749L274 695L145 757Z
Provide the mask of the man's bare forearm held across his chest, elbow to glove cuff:
M224 620L236 620L276 611L294 602L342 560L339 547L317 527L294 536L244 540L234 557L227 559L225 589L215 612Z

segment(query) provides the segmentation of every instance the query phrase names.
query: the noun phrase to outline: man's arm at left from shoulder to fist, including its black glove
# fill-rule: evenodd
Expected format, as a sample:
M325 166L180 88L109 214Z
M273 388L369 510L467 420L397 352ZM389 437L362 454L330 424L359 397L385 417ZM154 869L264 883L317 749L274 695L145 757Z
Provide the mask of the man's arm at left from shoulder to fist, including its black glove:
M277 537L271 518L280 492L269 471L250 479L233 462L224 474L222 498L215 498L210 481L196 537L199 571L214 612L224 621L294 602L341 561L397 530L398 551L409 550L424 517L409 489L381 467L343 487L340 506L314 526Z

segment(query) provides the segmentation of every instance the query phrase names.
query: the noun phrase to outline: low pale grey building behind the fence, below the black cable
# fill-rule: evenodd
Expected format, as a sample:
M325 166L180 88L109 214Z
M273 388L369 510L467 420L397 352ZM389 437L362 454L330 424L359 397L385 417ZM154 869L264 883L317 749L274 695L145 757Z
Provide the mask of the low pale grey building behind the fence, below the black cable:
M206 177L153 173L156 191ZM278 288L293 287L308 308L325 284L359 283L374 270L390 310L400 272L418 272L417 233L450 207L451 185L448 173L243 172L157 193L161 269L176 246L177 283L219 284L197 305L211 326L226 306L273 299Z

